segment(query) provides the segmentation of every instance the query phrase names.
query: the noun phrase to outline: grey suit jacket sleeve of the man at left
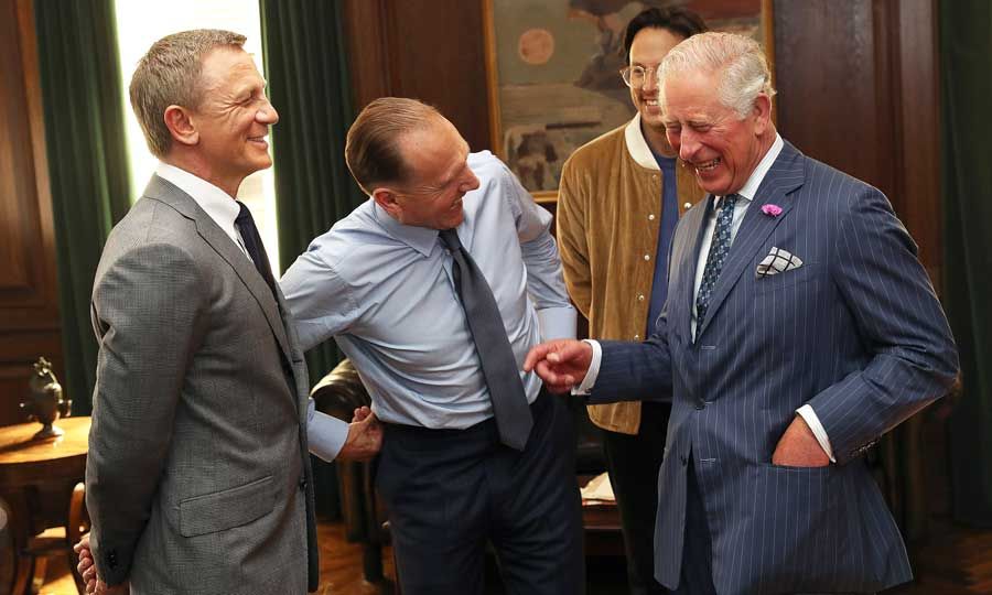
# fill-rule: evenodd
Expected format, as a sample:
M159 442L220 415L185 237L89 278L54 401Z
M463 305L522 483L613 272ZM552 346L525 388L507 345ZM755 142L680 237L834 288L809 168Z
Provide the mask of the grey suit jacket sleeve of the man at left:
M128 578L202 332L206 280L183 250L134 248L93 292L100 344L86 462L90 545L108 584Z

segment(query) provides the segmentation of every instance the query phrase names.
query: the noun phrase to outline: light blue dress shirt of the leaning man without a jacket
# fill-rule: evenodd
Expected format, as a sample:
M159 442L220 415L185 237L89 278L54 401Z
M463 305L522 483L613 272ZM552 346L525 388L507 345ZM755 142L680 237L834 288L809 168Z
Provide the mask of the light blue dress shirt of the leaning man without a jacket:
M574 337L575 311L561 273L551 215L489 152L468 166L457 232L482 270L517 364L542 339ZM300 342L335 337L380 420L464 429L493 415L472 334L436 229L402 225L373 199L316 238L280 281ZM528 401L540 391L520 377Z

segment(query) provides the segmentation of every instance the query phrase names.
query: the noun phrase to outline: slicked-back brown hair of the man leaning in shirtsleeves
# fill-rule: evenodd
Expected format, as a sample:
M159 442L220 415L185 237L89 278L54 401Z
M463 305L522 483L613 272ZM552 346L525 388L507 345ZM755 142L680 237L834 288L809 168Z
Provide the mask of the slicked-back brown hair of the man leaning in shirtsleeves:
M423 130L443 116L435 108L403 97L381 97L355 118L345 142L345 162L366 194L376 184L407 182L412 172L400 152L403 136Z

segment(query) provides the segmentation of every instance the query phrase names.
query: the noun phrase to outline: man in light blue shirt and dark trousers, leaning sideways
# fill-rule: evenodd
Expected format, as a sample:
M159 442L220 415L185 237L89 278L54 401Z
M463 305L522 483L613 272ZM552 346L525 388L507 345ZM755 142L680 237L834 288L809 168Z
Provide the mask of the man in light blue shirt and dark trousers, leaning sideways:
M551 215L419 101L370 104L346 156L370 199L316 238L280 284L303 348L335 337L385 424L377 486L403 593L481 593L487 542L510 593L581 593L571 419L520 371L530 347L575 331ZM484 277L505 338L471 325L442 230L457 232L459 252ZM500 441L508 429L497 428L477 348L504 340L532 415L521 450Z

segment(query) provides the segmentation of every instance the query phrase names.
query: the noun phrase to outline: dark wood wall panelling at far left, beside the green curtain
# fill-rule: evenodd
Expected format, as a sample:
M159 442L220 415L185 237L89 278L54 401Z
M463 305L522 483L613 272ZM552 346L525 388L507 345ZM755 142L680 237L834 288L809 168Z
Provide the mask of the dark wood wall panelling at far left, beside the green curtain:
M24 421L31 364L62 344L32 2L0 0L0 425Z

